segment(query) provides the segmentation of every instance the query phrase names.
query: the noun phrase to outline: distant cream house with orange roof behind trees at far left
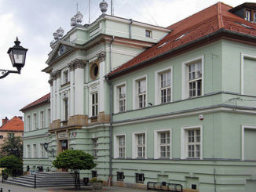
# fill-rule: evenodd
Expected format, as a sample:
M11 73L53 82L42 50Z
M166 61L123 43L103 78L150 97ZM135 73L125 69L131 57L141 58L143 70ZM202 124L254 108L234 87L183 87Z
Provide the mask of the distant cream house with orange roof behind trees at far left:
M2 126L0 127L0 148L5 142L5 139L13 136L23 136L24 132L24 122L22 117L14 116L12 119L7 117L2 119Z

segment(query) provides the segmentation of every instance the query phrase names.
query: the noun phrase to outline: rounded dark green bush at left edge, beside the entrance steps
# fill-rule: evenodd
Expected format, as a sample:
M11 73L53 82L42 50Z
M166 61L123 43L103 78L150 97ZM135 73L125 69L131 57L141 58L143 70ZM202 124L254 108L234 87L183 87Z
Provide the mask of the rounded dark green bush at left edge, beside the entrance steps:
M22 172L23 163L21 158L16 158L14 155L5 156L0 159L0 168L6 168L7 174L16 176Z

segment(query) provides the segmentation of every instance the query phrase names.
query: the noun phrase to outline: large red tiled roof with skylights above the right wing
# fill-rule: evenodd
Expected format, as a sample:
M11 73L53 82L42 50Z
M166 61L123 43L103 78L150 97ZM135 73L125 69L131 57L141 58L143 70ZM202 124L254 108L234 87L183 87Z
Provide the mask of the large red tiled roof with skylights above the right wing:
M167 27L173 31L150 49L145 50L143 53L109 73L108 78L115 78L116 74L123 74L124 71L137 67L141 63L153 60L164 53L170 53L171 50L184 47L221 29L238 34L256 36L256 24L230 13L230 9L232 9L231 6L218 2L207 9L203 9L199 13Z

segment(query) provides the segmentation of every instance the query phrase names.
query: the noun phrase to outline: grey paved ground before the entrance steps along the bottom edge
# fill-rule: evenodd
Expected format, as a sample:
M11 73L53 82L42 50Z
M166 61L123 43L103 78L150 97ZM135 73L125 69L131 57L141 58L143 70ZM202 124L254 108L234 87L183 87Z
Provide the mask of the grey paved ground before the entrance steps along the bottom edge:
M5 183L0 183L0 188L2 188L2 192L93 192L91 187L82 186L80 190L75 190L75 187L47 187L47 188L30 188L30 187L20 187L16 185L10 185ZM121 187L103 187L102 192L144 192L151 190L136 190L136 189L128 189Z

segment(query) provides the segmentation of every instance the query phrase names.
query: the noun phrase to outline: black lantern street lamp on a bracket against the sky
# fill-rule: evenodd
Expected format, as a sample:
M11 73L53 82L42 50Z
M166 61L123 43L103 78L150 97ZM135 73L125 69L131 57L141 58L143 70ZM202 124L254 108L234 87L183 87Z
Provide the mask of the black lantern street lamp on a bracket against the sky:
M15 45L13 47L10 47L7 53L9 54L9 58L13 64L13 67L16 67L17 71L0 69L0 74L2 74L2 76L0 76L0 79L5 78L8 74L11 73L20 74L21 68L25 65L26 53L28 49L20 46L20 41L18 38L16 38L16 41L14 43Z

